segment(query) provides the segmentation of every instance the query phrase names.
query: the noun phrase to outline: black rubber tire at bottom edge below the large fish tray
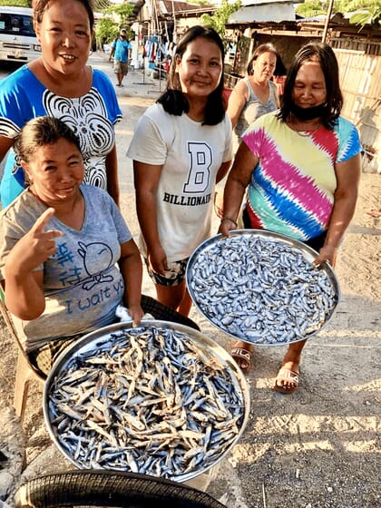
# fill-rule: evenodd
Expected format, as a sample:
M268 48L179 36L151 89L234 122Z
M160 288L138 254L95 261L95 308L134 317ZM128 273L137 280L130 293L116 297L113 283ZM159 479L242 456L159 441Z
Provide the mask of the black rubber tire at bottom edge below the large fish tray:
M161 503L165 502L165 504ZM123 508L224 508L184 484L146 474L76 470L44 474L20 485L15 507L115 506Z

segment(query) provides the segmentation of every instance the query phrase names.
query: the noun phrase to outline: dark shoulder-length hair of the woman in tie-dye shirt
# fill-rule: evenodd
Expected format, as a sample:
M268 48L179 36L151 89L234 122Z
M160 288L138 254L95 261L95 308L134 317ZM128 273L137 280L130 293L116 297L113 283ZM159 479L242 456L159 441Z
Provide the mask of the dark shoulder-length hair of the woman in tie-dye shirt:
M278 118L283 122L288 120L292 107L292 93L298 71L302 64L308 61L318 61L324 74L327 91L327 108L320 120L326 129L332 131L343 107L343 95L340 90L337 58L333 49L325 43L309 43L301 47L294 56L285 83L283 101Z

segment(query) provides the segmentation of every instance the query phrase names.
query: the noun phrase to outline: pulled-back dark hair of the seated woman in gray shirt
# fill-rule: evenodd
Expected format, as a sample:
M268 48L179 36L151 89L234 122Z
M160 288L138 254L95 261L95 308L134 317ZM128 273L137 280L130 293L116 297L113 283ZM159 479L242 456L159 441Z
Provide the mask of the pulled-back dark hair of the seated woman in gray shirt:
M79 139L66 123L53 116L37 116L24 124L15 139L17 161L29 162L37 148L61 139L73 143L81 152Z

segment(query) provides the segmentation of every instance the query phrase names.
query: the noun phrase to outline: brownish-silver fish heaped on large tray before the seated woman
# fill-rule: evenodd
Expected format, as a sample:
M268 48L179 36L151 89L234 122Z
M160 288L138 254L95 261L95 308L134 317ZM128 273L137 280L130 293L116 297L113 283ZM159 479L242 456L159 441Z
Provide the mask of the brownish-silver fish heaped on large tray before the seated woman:
M244 413L233 370L170 327L102 337L49 386L51 428L82 469L199 474L238 439Z

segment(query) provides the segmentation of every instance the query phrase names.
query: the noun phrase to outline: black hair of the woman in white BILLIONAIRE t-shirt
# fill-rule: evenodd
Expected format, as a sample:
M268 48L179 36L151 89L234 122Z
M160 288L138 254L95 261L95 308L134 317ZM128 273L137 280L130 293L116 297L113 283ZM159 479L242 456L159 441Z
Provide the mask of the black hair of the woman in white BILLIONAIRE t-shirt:
M184 93L181 91L181 83L178 73L176 73L176 64L178 58L181 59L188 45L197 37L202 37L217 44L220 48L222 64L225 59L225 50L220 35L210 26L201 26L199 24L192 26L181 37L181 41L176 45L176 52L173 55L171 68L168 76L167 90L159 97L158 103L162 104L164 110L170 114L181 116L183 112L189 112L190 106ZM220 83L216 90L210 93L205 108L205 118L203 125L217 125L225 117L226 102L223 97L223 73L221 73Z

